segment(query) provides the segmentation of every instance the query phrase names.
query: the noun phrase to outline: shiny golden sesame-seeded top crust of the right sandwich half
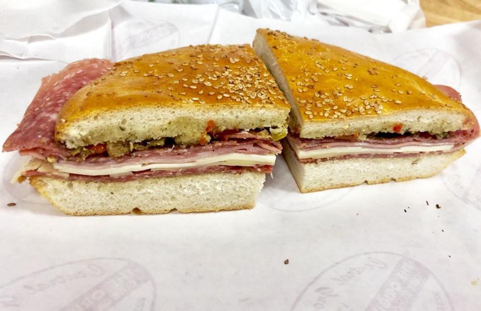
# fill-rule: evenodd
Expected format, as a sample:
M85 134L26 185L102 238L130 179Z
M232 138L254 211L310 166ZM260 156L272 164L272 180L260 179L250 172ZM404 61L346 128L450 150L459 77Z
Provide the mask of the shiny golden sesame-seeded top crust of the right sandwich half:
M387 115L415 109L473 113L401 68L317 40L259 29L289 83L304 122ZM470 127L471 124L466 124Z

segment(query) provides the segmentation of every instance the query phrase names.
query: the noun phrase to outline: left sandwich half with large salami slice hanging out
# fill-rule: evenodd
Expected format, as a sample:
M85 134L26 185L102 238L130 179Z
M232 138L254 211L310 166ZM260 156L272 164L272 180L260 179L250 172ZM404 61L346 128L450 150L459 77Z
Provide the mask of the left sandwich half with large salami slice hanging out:
M4 151L71 215L253 208L290 106L249 45L202 45L43 79Z

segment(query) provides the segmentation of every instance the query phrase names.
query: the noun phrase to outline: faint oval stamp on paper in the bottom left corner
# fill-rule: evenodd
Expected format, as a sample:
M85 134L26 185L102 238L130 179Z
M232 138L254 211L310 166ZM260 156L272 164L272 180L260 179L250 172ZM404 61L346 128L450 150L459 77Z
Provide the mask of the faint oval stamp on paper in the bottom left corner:
M116 258L73 261L0 286L1 310L154 310L155 282L145 267Z

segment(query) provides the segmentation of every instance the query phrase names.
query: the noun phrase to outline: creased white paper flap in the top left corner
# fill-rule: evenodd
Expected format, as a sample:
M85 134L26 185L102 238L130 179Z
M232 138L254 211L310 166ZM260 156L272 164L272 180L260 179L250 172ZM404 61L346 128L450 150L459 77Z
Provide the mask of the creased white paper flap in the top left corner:
M73 62L111 55L108 11L121 0L7 0L0 11L0 56Z

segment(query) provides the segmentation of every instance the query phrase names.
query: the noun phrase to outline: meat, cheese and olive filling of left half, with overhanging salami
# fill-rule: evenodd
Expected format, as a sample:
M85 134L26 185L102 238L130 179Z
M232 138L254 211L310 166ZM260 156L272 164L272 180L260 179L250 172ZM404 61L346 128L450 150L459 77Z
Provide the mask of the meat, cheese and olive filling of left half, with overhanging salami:
M146 141L106 142L69 149L54 139L57 117L63 104L79 89L107 73L109 60L89 59L68 65L42 79L18 128L3 146L30 156L16 180L52 176L72 180L129 181L139 178L240 173L270 173L282 150L269 129L219 131L208 121L197 144L181 145L175 137Z

